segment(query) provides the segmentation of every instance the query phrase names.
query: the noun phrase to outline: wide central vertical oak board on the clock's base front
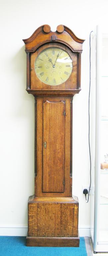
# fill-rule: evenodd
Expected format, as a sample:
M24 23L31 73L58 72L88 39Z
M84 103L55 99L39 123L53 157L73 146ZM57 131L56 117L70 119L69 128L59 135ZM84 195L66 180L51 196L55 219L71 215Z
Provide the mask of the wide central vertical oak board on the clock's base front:
M38 237L61 234L61 204L38 203Z

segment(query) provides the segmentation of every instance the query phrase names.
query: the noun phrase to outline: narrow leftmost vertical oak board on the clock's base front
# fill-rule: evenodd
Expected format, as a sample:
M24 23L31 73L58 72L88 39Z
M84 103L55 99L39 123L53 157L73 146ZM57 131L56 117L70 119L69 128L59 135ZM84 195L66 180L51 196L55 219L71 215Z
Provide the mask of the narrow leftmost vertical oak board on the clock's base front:
M28 236L37 236L37 204L28 204Z

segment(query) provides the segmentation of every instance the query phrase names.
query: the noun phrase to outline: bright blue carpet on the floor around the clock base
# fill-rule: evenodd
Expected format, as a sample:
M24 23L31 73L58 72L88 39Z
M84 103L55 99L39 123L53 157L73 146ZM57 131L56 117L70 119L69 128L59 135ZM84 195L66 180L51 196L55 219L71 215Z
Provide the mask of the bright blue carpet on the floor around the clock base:
M87 256L84 237L80 247L27 247L24 236L0 236L0 256Z

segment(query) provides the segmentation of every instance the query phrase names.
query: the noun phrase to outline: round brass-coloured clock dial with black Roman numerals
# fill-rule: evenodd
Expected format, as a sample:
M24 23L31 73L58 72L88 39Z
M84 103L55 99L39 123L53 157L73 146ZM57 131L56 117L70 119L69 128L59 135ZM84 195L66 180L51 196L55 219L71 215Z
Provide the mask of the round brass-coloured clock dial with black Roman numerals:
M35 60L35 72L45 84L62 84L72 72L72 59L59 47L46 48Z

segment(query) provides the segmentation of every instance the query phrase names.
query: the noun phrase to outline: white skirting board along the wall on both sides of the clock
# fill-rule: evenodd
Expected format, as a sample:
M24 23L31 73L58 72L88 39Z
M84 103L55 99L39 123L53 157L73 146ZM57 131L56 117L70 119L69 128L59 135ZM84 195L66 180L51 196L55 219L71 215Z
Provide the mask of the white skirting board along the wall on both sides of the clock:
M90 237L90 226L79 226L79 236ZM0 236L27 236L28 227L23 226L4 226L0 225Z

